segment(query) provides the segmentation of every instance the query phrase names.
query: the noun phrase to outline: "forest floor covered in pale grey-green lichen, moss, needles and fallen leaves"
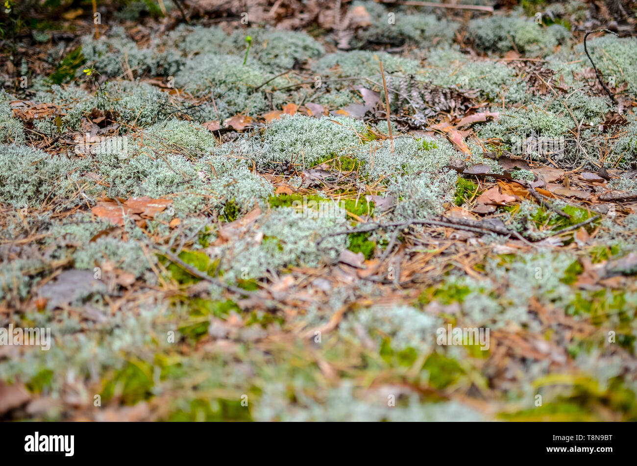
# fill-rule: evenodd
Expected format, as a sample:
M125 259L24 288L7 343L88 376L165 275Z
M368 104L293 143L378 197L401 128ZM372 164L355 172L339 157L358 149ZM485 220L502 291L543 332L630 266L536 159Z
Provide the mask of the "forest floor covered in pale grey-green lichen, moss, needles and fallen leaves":
M0 17L0 327L52 337L1 419L637 420L633 3L57 3Z

